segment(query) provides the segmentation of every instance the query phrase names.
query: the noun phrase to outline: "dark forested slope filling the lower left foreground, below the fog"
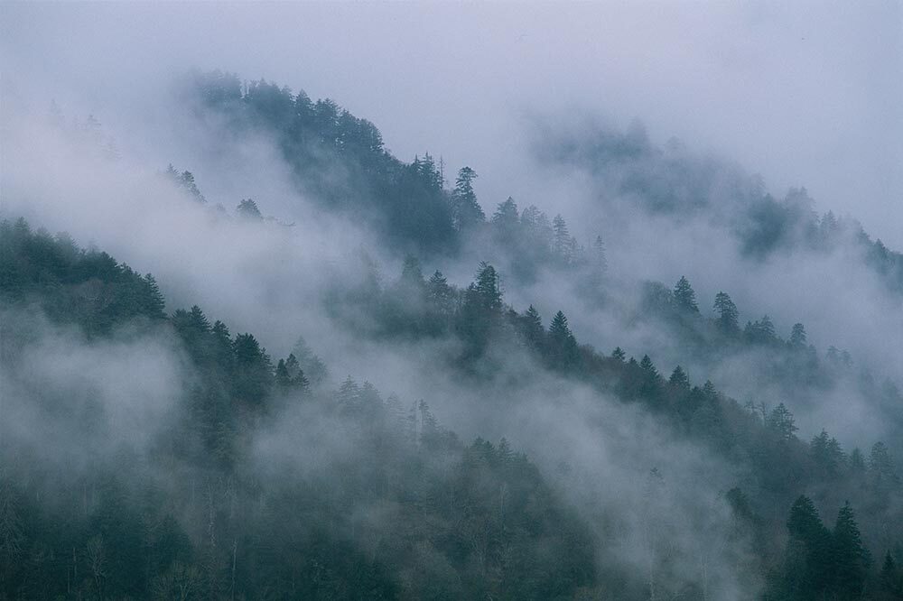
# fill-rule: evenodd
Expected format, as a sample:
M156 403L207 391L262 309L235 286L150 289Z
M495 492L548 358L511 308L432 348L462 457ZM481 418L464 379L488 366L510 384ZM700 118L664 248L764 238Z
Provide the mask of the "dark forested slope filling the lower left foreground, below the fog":
M425 402L405 408L351 378L330 390L303 340L274 365L253 335L197 306L166 315L153 278L68 236L22 219L0 233L3 306L16 311L3 320L8 384L42 335L19 318L45 309L85 345L138 328L177 337L191 359L147 456L91 457L62 475L0 447L0 596L551 599L593 587L594 541L504 439L463 444ZM54 310L73 298L86 310ZM67 419L65 398L19 384L42 419ZM105 420L68 428L90 436ZM283 421L285 452L325 452L323 465L266 467L254 440L285 435Z

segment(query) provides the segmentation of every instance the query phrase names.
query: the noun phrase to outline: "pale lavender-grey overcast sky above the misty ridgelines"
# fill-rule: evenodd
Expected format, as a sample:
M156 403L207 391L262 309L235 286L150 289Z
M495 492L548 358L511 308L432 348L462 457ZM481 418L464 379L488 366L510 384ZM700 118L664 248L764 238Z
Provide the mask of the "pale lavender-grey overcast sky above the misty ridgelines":
M638 117L903 248L903 3L786 4L7 2L0 50L7 92L93 112L121 140L180 68L333 97L399 158L470 164L487 208L554 210L530 198L530 117Z

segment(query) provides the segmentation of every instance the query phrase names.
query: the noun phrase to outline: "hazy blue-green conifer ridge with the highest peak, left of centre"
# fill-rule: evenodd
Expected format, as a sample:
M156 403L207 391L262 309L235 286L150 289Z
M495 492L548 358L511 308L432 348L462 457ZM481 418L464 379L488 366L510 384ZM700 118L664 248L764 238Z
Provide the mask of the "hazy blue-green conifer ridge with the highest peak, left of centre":
M542 265L598 263L604 246L590 253L570 235L561 215L549 220L535 206L518 212L513 199L487 219L474 191L477 173L462 167L446 188L444 164L429 153L414 162L388 153L376 126L351 115L330 99L313 102L265 81L241 82L215 71L196 74L191 95L199 110L228 119L228 135L263 131L275 136L299 185L328 207L375 223L386 241L414 254L453 254L463 245L489 239L500 252L517 256L517 276L530 277ZM191 172L167 171L177 185L203 200ZM338 173L338 175L337 175Z

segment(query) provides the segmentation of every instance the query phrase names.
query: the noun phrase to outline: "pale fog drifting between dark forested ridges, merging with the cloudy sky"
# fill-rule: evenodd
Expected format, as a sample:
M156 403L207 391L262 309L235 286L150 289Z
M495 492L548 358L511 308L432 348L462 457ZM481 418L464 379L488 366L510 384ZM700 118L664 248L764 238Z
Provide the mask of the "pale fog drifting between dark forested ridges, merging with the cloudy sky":
M452 336L367 336L373 316L342 304L340 295L373 277L389 289L402 254L366 218L330 213L300 191L264 131L224 134L217 116L193 112L181 96L188 71L226 69L332 97L374 122L402 161L441 156L447 183L461 166L473 167L488 216L513 196L521 209L561 213L582 245L602 236L608 251L604 302L582 295L574 282L580 273L542 269L532 282L518 280L506 272L515 261L485 236L468 239L457 255L428 257L427 277L442 270L464 289L479 261L490 260L507 304L518 311L535 305L545 326L563 310L582 344L605 354L616 346L628 356L648 354L664 376L683 365L692 384L711 380L740 403L786 402L806 441L824 428L846 450L879 439L900 449L893 440L899 408L863 393L858 372L839 376L826 392L813 387L789 399L787 387L761 382L768 352L712 358L641 315L648 281L671 287L685 275L703 317L712 316L715 294L727 291L741 327L767 314L787 338L803 322L819 356L829 346L849 350L857 370L900 383L901 296L863 266L852 236L828 253L793 247L750 258L731 229L740 212L730 195L712 191L703 214L650 214L623 197L610 173L550 158L542 147L555 136L579 144L597 127L629 135L638 118L654 146L676 136L694 157L711 157L724 180L760 182L778 198L805 186L817 212L859 219L870 236L898 250L899 4L6 3L0 16L0 217L67 231L81 245L154 273L167 312L198 304L233 334L253 332L274 360L303 336L330 370L316 393L323 398L350 374L397 394L405 408L424 399L465 441L507 438L590 524L593 540L604 541L597 563L605 569L619 565L674 590L701 578L703 598L757 595L764 584L750 559L751 537L738 534L725 502L728 490L759 485L756 476L741 459L678 435L638 404L543 369L510 338L499 336L487 351L496 373L480 379L452 368L450 357L461 353ZM62 125L52 123L54 105ZM102 125L100 144L79 134L88 115ZM116 157L103 152L107 143L115 143ZM166 179L170 163L194 174L206 205ZM345 177L338 165L331 175ZM267 218L237 217L246 198ZM25 321L13 312L3 319ZM28 319L37 332L28 352L0 374L3 448L71 470L72 481L93 458L123 448L151 453L199 377L179 343L127 328L98 342L40 316ZM108 430L82 444L84 431L33 407L39 386L53 398L72 396L75 413L104 414ZM289 403L248 435L244 469L270 484L293 477L335 484L344 462L363 455L355 439L336 431L357 427L321 404ZM54 445L45 448L46 439ZM5 460L6 468L19 461ZM188 481L151 473L172 490ZM193 486L191 479L192 505L179 516L192 536L203 536L206 510L193 505ZM762 498L783 502L771 493ZM391 511L354 507L352 532L369 532L352 537L361 548L370 549L368 536L379 538L374 532L395 527ZM786 508L768 511L768 519L782 520ZM874 524L865 522L873 541Z

